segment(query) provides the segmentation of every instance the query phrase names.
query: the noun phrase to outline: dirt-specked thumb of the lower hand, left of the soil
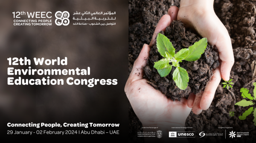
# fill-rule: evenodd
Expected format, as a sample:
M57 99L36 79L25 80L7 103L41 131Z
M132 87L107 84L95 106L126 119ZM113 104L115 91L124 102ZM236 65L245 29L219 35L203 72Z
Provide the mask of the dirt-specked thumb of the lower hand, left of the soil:
M131 70L130 76L127 83L132 83L134 81L143 79L143 67L147 65L150 47L147 44L143 45L140 55L134 62L134 66Z

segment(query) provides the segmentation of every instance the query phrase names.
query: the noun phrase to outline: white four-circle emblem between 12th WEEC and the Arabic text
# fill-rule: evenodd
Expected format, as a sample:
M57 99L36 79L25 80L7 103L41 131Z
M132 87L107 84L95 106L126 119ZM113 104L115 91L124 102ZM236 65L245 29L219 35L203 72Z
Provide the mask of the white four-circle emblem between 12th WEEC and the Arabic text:
M67 26L69 24L69 19L68 17L70 16L69 12L67 11L57 11L55 13L55 17L56 17L56 20L55 20L55 24L60 26L60 25L64 25L64 26Z

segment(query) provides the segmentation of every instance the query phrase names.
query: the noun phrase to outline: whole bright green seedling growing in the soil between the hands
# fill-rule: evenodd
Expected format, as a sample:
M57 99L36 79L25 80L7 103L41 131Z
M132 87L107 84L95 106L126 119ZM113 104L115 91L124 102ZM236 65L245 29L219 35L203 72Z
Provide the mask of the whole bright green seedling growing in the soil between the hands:
M157 49L164 58L158 62L154 62L154 68L157 69L161 77L165 77L171 72L172 66L177 67L172 74L172 79L175 81L177 87L185 90L188 86L189 76L187 71L180 67L179 62L182 62L182 60L189 62L198 60L204 53L206 47L207 38L202 38L189 48L183 48L175 53L172 42L166 36L159 33L157 35Z

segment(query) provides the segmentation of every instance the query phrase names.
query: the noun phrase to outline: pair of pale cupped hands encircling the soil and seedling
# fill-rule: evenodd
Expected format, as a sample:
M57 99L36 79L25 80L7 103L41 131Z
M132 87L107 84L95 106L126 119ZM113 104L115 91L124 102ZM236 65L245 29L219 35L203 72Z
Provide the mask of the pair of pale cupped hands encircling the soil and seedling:
M208 6L207 6L208 5ZM229 80L230 71L234 64L234 56L230 36L225 26L216 16L213 3L198 4L180 3L180 9L172 6L168 14L163 15L155 28L149 45L144 44L139 57L134 62L133 69L125 85L125 93L143 126L185 126L186 118L191 112L200 114L211 105L215 91L221 78ZM199 6L200 7L200 6ZM195 29L202 37L207 37L210 45L218 49L220 66L213 70L213 76L204 91L199 94L189 94L189 98L172 101L155 90L146 79L143 79L143 67L146 66L150 46L156 42L160 31L165 31L173 20L181 20L187 27ZM136 74L137 73L137 74ZM140 89L140 90L139 90Z

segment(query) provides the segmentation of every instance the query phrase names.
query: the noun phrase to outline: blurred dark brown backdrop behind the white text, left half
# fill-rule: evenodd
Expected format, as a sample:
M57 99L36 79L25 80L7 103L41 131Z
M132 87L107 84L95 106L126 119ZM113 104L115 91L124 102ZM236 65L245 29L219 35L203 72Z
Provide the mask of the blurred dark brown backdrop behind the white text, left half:
M14 26L12 12L51 11L51 26ZM55 12L68 11L70 24L55 25ZM74 12L116 11L113 26L73 25ZM21 20L27 16L20 16ZM110 16L111 17L111 16ZM35 19L35 18L34 18ZM40 18L42 19L42 18ZM47 19L47 18L46 18ZM80 21L79 21L80 22ZM92 22L99 22L98 20ZM7 130L31 131L35 128L7 128L7 123L120 123L119 128L71 128L73 130L120 130L120 135L102 135L104 140L128 137L128 100L124 87L127 76L128 1L126 0L0 0L0 134ZM27 57L32 69L87 69L90 75L57 75L64 85L8 85L7 68L28 69L29 65L9 65L7 58ZM33 58L64 59L67 65L37 65ZM42 79L47 76L21 76ZM68 85L66 79L117 79L117 85ZM39 128L41 129L41 128ZM68 128L46 128L66 130ZM10 136L8 136L10 137ZM16 139L19 139L19 136ZM28 136L20 136L28 137ZM41 139L48 136L38 136ZM53 137L53 136L50 136ZM60 136L54 136L60 137ZM61 136L59 139L72 136ZM77 135L95 138L99 136ZM124 138L125 137L125 138ZM44 138L45 139L45 138ZM100 139L100 138L98 138ZM103 138L102 138L103 139ZM14 138L10 138L14 140Z

